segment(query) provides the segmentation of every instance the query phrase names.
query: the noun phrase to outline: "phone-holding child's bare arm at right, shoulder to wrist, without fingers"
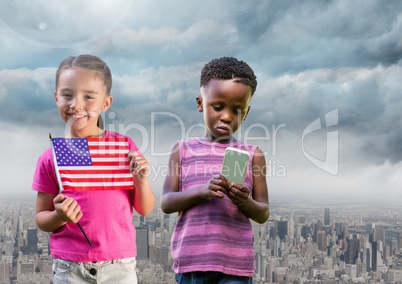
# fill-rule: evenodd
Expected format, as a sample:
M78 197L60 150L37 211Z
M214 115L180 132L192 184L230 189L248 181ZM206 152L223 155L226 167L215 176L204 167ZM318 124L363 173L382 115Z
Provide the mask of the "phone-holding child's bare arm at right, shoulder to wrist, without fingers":
M266 162L264 153L257 148L252 162L253 198L239 206L240 210L253 221L263 224L269 218L268 186L266 181Z

